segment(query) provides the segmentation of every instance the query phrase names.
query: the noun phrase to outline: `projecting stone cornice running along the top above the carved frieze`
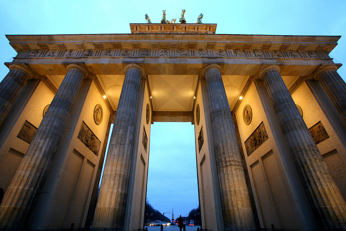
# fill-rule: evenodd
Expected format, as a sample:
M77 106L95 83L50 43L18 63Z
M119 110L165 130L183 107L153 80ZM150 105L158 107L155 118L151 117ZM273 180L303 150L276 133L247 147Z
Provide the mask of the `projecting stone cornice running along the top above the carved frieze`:
M211 48L253 50L333 50L340 36L229 34L6 35L21 50L96 48Z

